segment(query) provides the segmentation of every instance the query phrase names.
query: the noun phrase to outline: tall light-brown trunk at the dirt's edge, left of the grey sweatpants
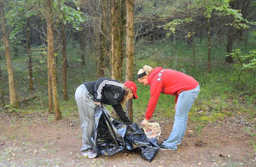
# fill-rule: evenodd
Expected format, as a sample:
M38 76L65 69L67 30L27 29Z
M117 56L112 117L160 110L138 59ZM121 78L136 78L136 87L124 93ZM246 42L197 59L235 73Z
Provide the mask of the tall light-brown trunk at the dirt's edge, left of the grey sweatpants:
M52 76L52 94L54 101L54 111L56 120L62 119L57 94L56 85L56 70L54 67L54 39L53 39L53 29L52 29L52 0L47 0L47 41L48 41L48 58L50 59L50 76Z

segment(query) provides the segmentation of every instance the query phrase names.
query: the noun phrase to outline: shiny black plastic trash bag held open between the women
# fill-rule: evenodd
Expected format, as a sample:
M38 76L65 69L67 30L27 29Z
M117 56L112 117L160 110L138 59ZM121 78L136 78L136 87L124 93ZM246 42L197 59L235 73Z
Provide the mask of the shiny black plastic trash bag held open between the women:
M95 113L93 150L103 155L113 155L122 150L141 152L141 157L152 161L159 147L156 139L148 139L137 123L122 123L98 107Z

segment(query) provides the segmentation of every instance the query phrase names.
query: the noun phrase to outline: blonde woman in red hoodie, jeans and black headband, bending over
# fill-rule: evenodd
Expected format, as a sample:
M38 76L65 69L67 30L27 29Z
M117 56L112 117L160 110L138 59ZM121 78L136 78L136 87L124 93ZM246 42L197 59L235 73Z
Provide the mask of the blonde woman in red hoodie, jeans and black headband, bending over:
M168 139L163 140L164 143L160 144L160 149L176 150L177 144L181 143L186 131L188 112L199 93L199 83L182 72L162 67L153 69L150 66L143 66L138 71L137 78L140 83L150 85L150 99L145 119L141 123L142 126L145 126L152 117L160 93L176 97L172 132Z

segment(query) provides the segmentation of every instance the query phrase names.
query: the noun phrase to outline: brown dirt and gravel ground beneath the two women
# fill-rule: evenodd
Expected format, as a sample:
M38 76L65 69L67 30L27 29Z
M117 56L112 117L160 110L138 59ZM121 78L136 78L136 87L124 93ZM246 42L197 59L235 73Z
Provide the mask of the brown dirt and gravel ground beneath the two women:
M142 159L139 153L128 151L112 156L99 155L95 159L84 158L80 154L79 120L50 122L48 116L0 113L0 167L256 166L256 154L250 142L256 138L246 133L244 128L249 123L241 115L207 125L200 133L196 132L196 124L189 120L178 150L160 150L152 162ZM158 142L161 143L161 139L168 137L173 120L163 119L159 123L162 133Z

